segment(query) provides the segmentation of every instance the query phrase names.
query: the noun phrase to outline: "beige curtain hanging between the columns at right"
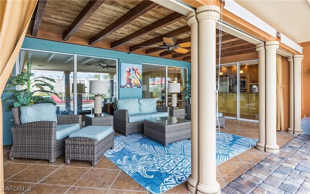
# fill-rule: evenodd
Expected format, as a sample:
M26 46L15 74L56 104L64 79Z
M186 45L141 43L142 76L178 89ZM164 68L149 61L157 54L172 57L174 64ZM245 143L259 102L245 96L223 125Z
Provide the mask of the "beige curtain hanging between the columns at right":
M277 130L284 128L282 56L277 54Z

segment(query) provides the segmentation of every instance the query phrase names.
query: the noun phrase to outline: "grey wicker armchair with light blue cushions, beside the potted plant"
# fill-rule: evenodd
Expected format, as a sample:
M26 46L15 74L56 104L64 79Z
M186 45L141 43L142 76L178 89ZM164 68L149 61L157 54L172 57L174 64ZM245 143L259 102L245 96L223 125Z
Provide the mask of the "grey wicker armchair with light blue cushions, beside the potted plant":
M34 104L27 107L41 106L42 112L44 110L50 112L49 116L55 113L57 122L55 120L40 121L47 113L39 112L41 115L33 117L37 121L26 121L25 123L24 119L21 118L24 113L21 113L20 108L12 109L15 126L12 127L13 145L9 156L10 160L27 158L55 162L57 157L64 154L64 140L71 132L81 128L82 116L74 114L57 116L56 106L47 104L49 103Z

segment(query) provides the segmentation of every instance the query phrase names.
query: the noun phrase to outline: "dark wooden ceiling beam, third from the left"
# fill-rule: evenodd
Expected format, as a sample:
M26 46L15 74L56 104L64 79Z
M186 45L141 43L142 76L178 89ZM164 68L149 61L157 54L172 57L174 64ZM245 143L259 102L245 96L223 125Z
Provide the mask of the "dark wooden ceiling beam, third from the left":
M92 38L90 38L89 44L93 45L101 41L105 37L109 36L111 33L121 29L122 27L124 27L126 24L130 23L137 17L150 11L155 6L157 6L157 4L152 1L142 0L138 5L136 5L134 8L129 10L126 14L124 14L120 18L118 18L116 21L110 24L107 28L103 29L101 32L97 33Z

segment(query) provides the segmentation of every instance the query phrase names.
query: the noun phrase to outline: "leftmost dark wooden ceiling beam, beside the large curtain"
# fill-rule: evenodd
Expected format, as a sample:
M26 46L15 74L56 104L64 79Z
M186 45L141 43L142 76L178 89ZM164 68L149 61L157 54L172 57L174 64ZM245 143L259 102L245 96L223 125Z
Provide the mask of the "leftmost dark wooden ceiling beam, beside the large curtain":
M37 2L37 5L32 15L34 17L32 26L31 26L32 36L37 36L38 34L46 5L47 5L47 0L38 0Z

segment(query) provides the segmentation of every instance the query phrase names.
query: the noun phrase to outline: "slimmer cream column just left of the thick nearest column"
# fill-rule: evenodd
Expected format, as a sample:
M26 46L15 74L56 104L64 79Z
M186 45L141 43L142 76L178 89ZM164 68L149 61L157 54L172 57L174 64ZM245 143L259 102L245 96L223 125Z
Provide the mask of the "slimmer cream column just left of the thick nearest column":
M198 21L196 13L190 12L187 14L187 24L191 29L191 145L192 145L192 161L191 161L191 175L187 178L188 190L196 194L197 185L199 181L199 43L198 43Z

